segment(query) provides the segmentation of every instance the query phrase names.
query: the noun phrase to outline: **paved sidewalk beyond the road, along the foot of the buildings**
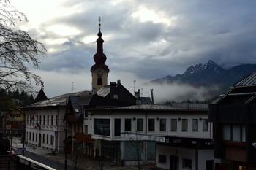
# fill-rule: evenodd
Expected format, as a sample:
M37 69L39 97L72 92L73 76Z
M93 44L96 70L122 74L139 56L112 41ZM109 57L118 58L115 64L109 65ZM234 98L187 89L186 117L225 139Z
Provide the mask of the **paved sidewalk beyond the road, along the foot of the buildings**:
M42 147L33 147L29 144L24 144L27 152L32 152L37 155L41 155L45 158L48 158L50 160L58 161L59 163L65 162L65 154L64 153L56 153L52 154L51 150L46 150ZM23 144L21 143L20 139L13 138L12 139L12 148L15 148L18 150L18 148L23 148ZM18 154L22 155L23 151L18 150ZM75 166L75 158L72 158L72 155L67 154L67 164L69 166ZM99 169L99 166L102 166L105 170L116 170L116 169L122 169L122 170L135 170L138 169L135 166L116 166L111 163L103 162L99 163L99 161L91 160L91 159L83 159L77 161L77 167L86 167L86 169Z

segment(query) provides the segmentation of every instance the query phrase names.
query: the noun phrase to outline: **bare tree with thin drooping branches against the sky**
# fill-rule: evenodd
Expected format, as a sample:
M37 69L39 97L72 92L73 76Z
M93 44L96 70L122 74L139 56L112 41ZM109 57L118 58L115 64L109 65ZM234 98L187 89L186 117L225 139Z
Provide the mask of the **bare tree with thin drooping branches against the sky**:
M45 56L45 46L32 39L18 23L28 22L26 15L18 12L9 0L0 0L0 94L5 90L25 90L34 83L43 87L41 77L31 72L29 65L39 69L38 56Z

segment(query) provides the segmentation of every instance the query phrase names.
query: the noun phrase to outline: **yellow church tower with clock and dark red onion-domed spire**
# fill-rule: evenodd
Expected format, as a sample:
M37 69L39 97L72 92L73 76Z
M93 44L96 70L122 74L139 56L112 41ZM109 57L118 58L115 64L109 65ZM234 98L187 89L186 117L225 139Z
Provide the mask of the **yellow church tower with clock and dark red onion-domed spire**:
M99 33L97 39L97 53L94 55L94 65L91 66L91 77L92 77L92 90L93 92L99 90L104 85L108 84L108 66L105 65L107 60L106 55L103 53L103 42L102 33L100 31L100 17L99 17Z

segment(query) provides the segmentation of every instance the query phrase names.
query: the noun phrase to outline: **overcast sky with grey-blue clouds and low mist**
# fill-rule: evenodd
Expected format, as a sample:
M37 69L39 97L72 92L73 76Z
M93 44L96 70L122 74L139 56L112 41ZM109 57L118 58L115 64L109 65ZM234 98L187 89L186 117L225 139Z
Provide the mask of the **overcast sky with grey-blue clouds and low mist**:
M183 74L212 60L228 68L256 63L256 1L252 0L10 0L29 18L19 28L45 44L47 58L35 71L48 97L91 90L91 66L101 17L108 82L118 79L133 93L172 99L203 92L179 85L144 82ZM136 82L134 83L134 80ZM205 90L205 89L203 89ZM202 90L202 91L203 91Z

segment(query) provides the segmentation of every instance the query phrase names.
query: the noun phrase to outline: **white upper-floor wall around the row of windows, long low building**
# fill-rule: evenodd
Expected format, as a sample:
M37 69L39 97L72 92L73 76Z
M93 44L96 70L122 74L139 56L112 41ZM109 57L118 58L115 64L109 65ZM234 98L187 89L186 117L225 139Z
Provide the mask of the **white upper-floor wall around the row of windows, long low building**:
M154 114L146 114L144 112L134 113L134 112L126 112L126 113L113 113L113 114L93 114L91 119L91 132L93 134L93 138L100 139L102 136L94 135L94 118L108 118L110 119L110 139L111 140L124 140L121 137L114 136L114 119L121 118L121 132L124 132L124 120L125 118L136 118L136 120L132 120L132 133L136 134L149 134L149 135L157 135L157 136L185 136L185 137L193 137L193 138L212 138L212 125L208 123L208 131L203 131L203 120L200 119L208 119L208 113L196 113L196 112L171 112L167 113L154 113ZM159 120L156 120L156 118ZM139 118L143 118L143 131L137 131L137 120ZM155 119L155 129L154 131L148 131L148 119ZM181 131L181 120L178 118L188 119L188 131ZM166 119L166 131L159 131L159 123L160 119ZM170 131L170 120L177 119L177 131ZM192 119L198 119L198 131L192 131ZM146 122L147 121L147 122ZM146 127L147 125L147 127Z

